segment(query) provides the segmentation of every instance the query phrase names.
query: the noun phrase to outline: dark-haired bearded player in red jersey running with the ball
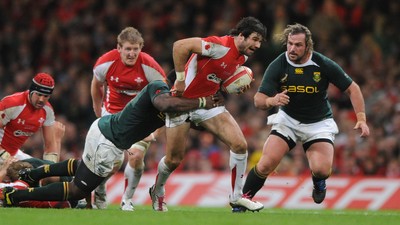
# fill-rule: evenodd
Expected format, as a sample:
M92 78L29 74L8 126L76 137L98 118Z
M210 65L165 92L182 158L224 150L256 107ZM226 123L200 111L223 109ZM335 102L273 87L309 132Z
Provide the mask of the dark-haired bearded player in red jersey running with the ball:
M176 41L173 46L177 76L174 85L176 95L198 98L216 93L220 89L221 82L233 75L235 70L246 62L248 56L260 48L265 38L265 26L254 17L246 17L227 36L194 37ZM243 196L247 142L239 125L225 106L167 114L166 156L158 164L156 181L149 191L153 209L168 210L164 202L165 183L184 157L191 122L216 135L231 149L229 165L232 172L230 194L232 207L240 205L251 211L262 209L264 206L261 203Z

